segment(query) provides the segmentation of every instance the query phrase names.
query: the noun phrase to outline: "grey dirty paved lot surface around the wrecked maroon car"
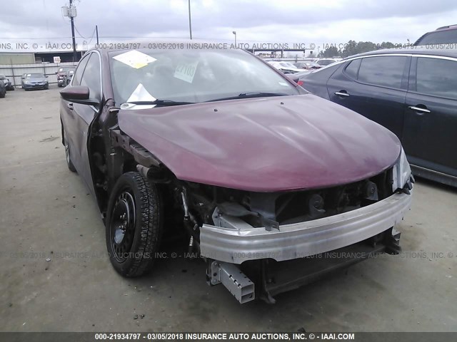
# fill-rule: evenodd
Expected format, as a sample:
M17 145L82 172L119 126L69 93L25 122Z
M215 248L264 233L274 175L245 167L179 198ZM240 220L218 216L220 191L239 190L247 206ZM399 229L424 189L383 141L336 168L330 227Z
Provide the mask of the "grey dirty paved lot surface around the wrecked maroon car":
M56 86L8 92L0 128L0 331L457 331L451 187L416 182L403 254L241 306L206 285L203 261L116 274L94 199L66 167Z

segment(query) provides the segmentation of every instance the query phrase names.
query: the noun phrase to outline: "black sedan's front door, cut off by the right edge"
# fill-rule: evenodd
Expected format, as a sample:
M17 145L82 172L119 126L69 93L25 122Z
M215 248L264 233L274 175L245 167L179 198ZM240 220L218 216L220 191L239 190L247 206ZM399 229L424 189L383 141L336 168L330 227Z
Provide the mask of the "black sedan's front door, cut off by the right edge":
M413 165L457 176L457 58L413 57L403 147Z

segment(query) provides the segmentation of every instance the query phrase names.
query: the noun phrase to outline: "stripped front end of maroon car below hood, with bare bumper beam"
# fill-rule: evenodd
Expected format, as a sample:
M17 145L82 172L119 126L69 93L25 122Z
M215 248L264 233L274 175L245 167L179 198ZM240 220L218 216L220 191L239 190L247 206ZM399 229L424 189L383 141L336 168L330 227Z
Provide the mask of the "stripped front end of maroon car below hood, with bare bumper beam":
M231 195L200 227L209 284L241 303L313 281L374 254L400 251L393 227L411 207L414 182L402 151L367 180L303 192Z

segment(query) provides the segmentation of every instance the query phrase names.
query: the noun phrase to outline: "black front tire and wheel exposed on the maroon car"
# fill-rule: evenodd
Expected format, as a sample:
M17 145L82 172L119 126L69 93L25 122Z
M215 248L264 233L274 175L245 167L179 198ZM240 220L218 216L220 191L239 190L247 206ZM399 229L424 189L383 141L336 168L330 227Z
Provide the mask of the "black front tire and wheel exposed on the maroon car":
M121 175L106 213L106 247L114 269L125 277L149 273L162 232L162 204L156 186L138 172Z

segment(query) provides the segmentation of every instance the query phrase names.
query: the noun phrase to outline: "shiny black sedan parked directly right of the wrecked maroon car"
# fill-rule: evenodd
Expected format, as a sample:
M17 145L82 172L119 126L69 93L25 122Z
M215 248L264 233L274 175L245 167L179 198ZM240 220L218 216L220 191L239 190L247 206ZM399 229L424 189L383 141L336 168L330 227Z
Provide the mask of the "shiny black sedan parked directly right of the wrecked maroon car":
M315 95L401 140L415 175L457 186L457 51L371 51L302 76Z

